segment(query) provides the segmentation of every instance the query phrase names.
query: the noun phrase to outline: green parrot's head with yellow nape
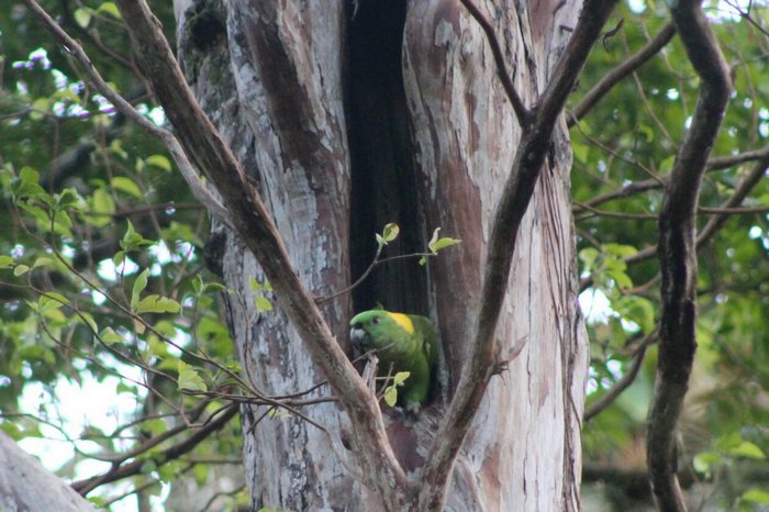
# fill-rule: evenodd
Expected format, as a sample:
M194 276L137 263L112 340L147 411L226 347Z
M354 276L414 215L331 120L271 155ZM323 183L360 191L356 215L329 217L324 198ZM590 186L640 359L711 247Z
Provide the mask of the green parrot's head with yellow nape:
M384 310L370 310L356 314L350 320L350 341L361 354L374 348L386 348L403 334L414 332L411 319L402 313Z

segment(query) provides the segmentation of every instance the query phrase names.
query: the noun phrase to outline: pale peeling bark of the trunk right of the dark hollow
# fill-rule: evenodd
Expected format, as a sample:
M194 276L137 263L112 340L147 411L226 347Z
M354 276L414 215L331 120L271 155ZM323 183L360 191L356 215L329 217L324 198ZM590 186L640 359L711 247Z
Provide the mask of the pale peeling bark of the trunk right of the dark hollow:
M489 2L525 102L544 88L577 9ZM554 15L555 14L555 15ZM506 37L504 37L506 36ZM413 2L405 35L406 90L428 224L465 241L436 261L434 297L457 377L478 313L490 219L521 133L488 46L457 2ZM491 381L455 468L457 510L577 510L579 418L587 340L577 318L568 141L562 123L520 231L497 330L499 359L524 352ZM514 425L514 426L513 426ZM545 463L547 461L547 463ZM457 486L457 479L467 479ZM456 501L454 501L456 503Z

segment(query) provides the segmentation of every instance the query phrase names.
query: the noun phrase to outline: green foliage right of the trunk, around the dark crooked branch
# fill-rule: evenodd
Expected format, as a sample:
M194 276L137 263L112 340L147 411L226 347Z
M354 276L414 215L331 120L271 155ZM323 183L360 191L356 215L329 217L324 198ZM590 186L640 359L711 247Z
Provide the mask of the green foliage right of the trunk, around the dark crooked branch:
M740 21L726 3L707 3L735 79L713 156L733 163L711 166L700 198L700 234L718 215L725 216L723 227L699 246L699 347L681 425L679 467L704 481L690 489L692 499L709 500L715 508L739 503L739 510L754 510L750 503L761 499L755 494L755 486L761 485L755 480L755 467L769 450L764 426L769 381L762 363L767 349L762 325L769 313L766 180L758 180L742 202L755 211L717 209L755 166L764 165L736 156L769 147L769 90L764 87L769 78L769 40L762 29L766 4L753 2L749 18ZM624 7L617 12L625 21L622 30L591 55L572 107L669 20L662 2L633 5L636 11ZM598 310L591 314L590 305L586 309L592 346L588 407L617 386L642 347L649 346L629 388L586 425L589 466L617 471L645 467L638 445L643 446L653 393L659 320L656 221L661 185L686 134L698 86L682 46L673 38L571 129L583 305Z

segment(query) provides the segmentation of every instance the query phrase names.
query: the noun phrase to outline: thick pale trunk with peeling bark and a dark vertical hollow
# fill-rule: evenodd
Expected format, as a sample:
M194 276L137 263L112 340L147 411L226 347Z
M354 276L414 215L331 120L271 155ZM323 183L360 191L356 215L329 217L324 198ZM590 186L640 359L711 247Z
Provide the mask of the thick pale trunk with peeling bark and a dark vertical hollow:
M531 103L579 5L555 0L477 3L509 73ZM427 266L387 264L353 293L323 302L347 346L353 311L381 302L438 324L442 379L416 424L388 414L409 470L450 400L467 356L489 223L520 126L490 48L458 0L177 0L179 54L212 121L258 182L294 267L316 297L368 266L374 234L397 222L388 255L426 249L432 232L462 240ZM565 123L516 246L498 327L500 361L455 466L452 510L577 510L579 427L588 347L577 310L570 148ZM255 388L271 396L324 380L287 316L258 311L264 278L232 235L215 235L230 324ZM327 387L307 397L327 396ZM375 510L338 450L347 421L333 403L268 414L246 407L244 461L255 509Z

